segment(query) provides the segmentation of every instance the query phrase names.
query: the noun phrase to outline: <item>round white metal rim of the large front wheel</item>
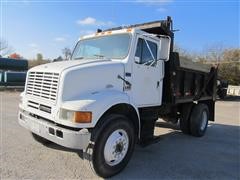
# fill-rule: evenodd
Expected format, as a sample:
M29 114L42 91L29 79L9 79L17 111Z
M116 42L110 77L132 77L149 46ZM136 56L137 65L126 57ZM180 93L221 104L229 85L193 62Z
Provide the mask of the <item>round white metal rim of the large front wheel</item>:
M128 134L123 129L115 130L107 139L104 147L104 159L110 166L119 164L127 154Z

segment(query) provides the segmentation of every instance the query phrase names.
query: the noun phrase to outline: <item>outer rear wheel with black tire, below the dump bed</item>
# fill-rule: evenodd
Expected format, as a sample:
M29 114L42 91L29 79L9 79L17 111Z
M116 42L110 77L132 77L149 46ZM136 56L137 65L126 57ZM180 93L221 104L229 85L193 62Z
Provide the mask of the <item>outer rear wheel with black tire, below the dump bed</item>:
M209 110L206 104L197 104L193 107L190 116L190 131L193 136L202 137L208 126Z

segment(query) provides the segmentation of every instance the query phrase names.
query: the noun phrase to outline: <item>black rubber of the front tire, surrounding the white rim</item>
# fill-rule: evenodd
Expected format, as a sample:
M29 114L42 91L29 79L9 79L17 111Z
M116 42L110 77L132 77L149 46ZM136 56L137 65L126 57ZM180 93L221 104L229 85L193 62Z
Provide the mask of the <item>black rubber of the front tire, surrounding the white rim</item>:
M104 156L104 148L107 144L108 138L120 129L124 130L128 136L128 148L125 156L123 156L123 159L118 164L109 165ZM88 160L90 160L90 166L93 167L96 174L100 177L111 177L122 171L132 156L135 146L134 126L131 121L129 121L129 119L123 115L107 115L103 117L100 121L100 124L94 128L94 131L92 132L92 141L94 145L91 147L91 149L86 150L86 153L90 153L91 156L91 158L88 158ZM115 145L115 147L116 152L117 145Z

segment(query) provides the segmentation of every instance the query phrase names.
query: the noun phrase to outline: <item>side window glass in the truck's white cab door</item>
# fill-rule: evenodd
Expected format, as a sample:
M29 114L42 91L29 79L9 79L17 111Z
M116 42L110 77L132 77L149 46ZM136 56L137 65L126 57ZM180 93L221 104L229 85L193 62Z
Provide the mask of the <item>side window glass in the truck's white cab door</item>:
M140 58L140 64L157 59L157 44L148 40L146 41L141 38L138 39L135 56Z

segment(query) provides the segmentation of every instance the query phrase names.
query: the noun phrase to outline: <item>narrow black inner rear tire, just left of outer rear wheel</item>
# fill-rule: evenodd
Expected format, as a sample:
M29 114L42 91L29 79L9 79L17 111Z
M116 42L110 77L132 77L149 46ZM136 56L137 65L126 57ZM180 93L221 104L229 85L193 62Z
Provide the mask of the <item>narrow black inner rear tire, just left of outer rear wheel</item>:
M191 134L190 132L190 113L193 104L184 104L182 107L181 117L180 117L180 129L184 134Z

